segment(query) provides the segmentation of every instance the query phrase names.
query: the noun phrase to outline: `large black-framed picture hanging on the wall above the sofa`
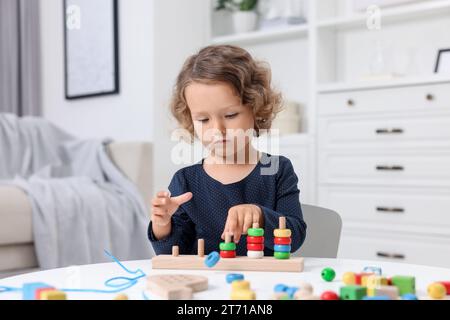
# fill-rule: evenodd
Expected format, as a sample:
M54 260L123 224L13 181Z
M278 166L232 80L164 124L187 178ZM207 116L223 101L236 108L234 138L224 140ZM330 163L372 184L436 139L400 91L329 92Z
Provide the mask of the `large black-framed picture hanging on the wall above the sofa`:
M64 0L66 99L119 93L117 0Z

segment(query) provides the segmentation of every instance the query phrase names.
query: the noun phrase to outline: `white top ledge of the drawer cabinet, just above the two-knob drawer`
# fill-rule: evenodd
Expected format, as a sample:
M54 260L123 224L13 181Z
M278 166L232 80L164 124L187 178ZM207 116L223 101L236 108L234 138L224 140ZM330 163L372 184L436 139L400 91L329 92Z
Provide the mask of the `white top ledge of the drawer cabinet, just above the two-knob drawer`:
M367 89L382 89L390 87L403 87L424 84L438 84L450 82L450 76L428 76L428 77L405 77L392 80L360 81L360 82L337 82L319 85L318 93L332 93L340 91L356 91Z

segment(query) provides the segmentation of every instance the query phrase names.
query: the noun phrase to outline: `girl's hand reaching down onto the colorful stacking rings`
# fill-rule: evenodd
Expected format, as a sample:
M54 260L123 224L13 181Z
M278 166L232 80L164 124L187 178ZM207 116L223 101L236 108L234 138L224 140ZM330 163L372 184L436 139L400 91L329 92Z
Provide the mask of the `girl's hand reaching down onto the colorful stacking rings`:
M264 214L260 207L254 204L240 204L228 210L228 218L222 233L225 240L225 233L233 234L234 242L238 243L242 234L247 234L247 230L253 223L258 223L260 228L264 227Z

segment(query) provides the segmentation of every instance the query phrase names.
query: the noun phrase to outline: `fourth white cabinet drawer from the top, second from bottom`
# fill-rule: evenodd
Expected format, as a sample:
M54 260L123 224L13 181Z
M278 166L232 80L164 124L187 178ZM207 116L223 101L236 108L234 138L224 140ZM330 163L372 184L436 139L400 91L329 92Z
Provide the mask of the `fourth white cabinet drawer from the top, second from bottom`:
M450 236L450 189L321 187L321 206L340 214L344 225Z

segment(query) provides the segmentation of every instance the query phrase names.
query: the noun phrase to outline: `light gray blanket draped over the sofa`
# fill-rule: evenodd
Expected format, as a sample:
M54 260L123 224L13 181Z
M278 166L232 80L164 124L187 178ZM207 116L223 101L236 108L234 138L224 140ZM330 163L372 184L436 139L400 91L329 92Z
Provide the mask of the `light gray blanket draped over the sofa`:
M0 114L0 183L30 197L43 269L153 255L137 188L111 162L104 141L81 141L39 118Z

